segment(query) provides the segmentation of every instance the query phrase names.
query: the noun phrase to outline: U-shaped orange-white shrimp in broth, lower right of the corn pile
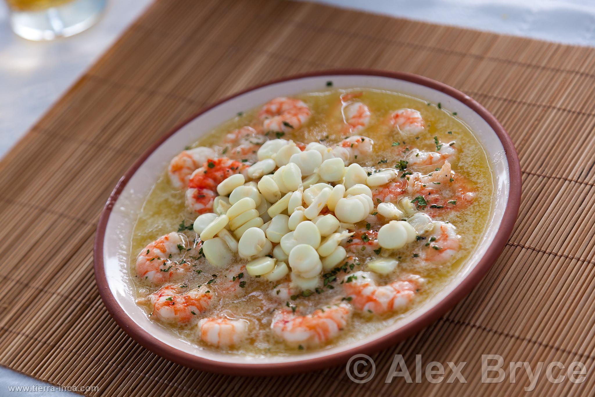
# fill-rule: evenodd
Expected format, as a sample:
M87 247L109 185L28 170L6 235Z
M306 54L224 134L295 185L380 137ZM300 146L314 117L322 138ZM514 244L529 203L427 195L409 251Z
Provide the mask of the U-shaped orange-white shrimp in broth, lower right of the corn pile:
M356 271L345 277L343 289L347 297L352 298L350 303L356 310L385 314L409 305L423 282L424 279L411 274L388 285L378 286L372 273Z

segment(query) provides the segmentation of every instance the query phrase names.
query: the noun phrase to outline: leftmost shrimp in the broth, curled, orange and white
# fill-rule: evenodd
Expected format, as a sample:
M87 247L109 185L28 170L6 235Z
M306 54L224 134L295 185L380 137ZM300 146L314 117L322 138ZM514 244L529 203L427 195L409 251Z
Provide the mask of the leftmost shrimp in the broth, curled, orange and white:
M149 243L136 258L136 272L144 280L159 285L170 280L179 279L189 270L186 261L175 262L173 255L180 255L188 245L186 236L171 232Z

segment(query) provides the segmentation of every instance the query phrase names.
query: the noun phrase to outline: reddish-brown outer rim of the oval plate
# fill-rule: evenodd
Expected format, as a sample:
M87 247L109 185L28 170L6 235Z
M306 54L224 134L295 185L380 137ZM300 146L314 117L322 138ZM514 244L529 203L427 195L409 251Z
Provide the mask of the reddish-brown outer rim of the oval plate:
M480 117L482 117L490 125L494 132L496 132L500 142L502 142L502 146L504 147L506 153L506 159L508 160L510 192L506 209L502 217L502 223L500 224L500 227L494 236L493 242L487 248L486 253L483 255L478 264L475 265L475 267L465 277L465 279L463 279L462 282L454 290L452 290L452 292L449 293L449 295L445 296L440 302L431 307L427 312L411 321L411 323L405 324L399 329L394 330L394 332L383 337L378 337L377 339L365 343L364 345L358 345L353 348L337 352L336 354L312 358L310 360L265 364L258 364L258 362L234 363L209 360L207 358L199 357L197 355L189 354L187 352L173 348L172 346L161 342L161 340L156 339L156 337L150 335L148 332L134 323L134 321L124 312L120 305L118 305L114 295L112 295L111 290L108 287L107 278L105 277L103 251L105 228L107 226L108 218L111 214L112 208L120 196L120 193L124 189L124 186L126 186L126 183L130 180L131 176L136 173L140 165L143 164L143 162L149 157L149 155L152 154L152 152L155 151L156 148L158 148L168 137L176 133L181 127L185 126L187 123L194 120L204 112L220 104L223 104L224 102L227 102L236 96L264 86L286 82L289 80L299 80L307 77L321 76L328 76L331 79L333 76L346 75L388 77L391 79L404 80L406 82L416 83L439 90L440 92L446 93L446 95L452 96L452 98L458 99L458 101L461 101L467 105L478 115L480 115ZM386 348L386 346L394 345L395 343L414 335L414 333L433 323L442 314L450 310L457 302L461 301L465 295L471 292L471 289L480 282L481 278L487 273L487 271L502 253L504 246L506 245L506 242L508 242L509 236L512 233L520 204L521 165L519 163L515 147L512 143L512 139L508 133L506 133L506 130L502 127L499 121L496 120L494 115L488 112L486 108L484 108L465 93L444 83L429 79L428 77L399 71L383 71L373 69L337 69L315 71L312 73L297 74L294 76L262 83L260 85L253 86L238 92L234 95L228 96L227 98L221 99L220 101L217 101L214 104L196 112L196 114L187 118L187 120L177 124L176 127L171 129L168 133L151 145L151 147L147 149L136 162L134 162L129 170L126 171L124 176L118 181L117 185L109 196L107 203L105 204L104 210L101 212L97 226L97 232L95 235L95 243L93 245L93 268L95 270L95 280L99 289L99 295L101 295L101 299L104 302L105 307L107 308L109 314L114 318L116 323L128 335L130 335L130 337L140 343L140 345L144 346L155 354L160 355L161 357L167 358L167 360L174 361L178 364L198 370L230 375L267 376L313 371L330 367L332 365L342 364L343 362L346 362L349 357L355 354L374 354L375 352Z

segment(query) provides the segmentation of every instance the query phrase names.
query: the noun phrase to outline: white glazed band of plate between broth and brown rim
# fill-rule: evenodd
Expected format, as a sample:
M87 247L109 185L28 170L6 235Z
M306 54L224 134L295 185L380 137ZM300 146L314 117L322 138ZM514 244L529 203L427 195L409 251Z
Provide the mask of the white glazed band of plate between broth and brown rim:
M480 246L475 251L475 255L466 262L458 274L456 274L452 282L450 282L447 287L440 290L435 296L425 301L421 307L411 312L406 318L397 321L392 326L386 327L379 332L364 337L357 345L365 344L378 337L387 335L430 310L430 308L436 305L437 302L440 302L445 296L449 295L449 293L452 292L452 290L455 289L455 287L458 286L478 264L478 261L483 257L496 235L509 196L508 160L502 143L490 125L462 102L424 85L380 76L330 75L303 77L301 79L275 83L273 85L252 90L236 96L235 98L199 115L199 117L190 121L190 123L186 124L186 126L182 127L165 140L165 142L162 143L162 145L160 145L142 165L140 165L140 168L134 173L124 187L119 198L115 202L107 222L104 237L104 267L108 286L114 295L115 300L131 320L133 320L139 327L173 348L209 360L233 362L236 364L251 363L258 365L270 364L272 362L311 360L312 358L327 356L356 346L353 343L349 343L345 346L337 346L322 351L268 358L253 358L200 349L189 342L179 339L164 327L149 320L145 312L134 303L132 292L133 286L127 264L130 253L130 235L143 201L145 200L146 195L148 195L151 186L156 182L170 159L178 154L181 148L189 143L195 142L199 136L208 133L224 121L233 117L237 112L249 110L264 104L275 96L290 96L296 95L297 93L325 89L325 83L328 80L333 81L334 88L367 87L400 92L425 99L432 103L440 102L444 109L456 111L458 113L457 117L463 120L472 132L475 133L475 136L480 140L488 157L491 159L495 186L493 212L489 219L487 232L481 239Z

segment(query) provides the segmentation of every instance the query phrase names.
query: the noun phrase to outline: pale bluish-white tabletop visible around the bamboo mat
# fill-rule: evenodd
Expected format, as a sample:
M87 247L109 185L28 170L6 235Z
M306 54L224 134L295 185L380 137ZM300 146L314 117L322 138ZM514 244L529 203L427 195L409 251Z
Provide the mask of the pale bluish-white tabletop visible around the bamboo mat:
M595 0L319 2L414 20L595 46ZM29 42L12 34L8 11L0 0L0 158L150 3L151 0L110 0L104 17L86 32L53 42ZM0 396L8 394L8 386L32 385L48 386L0 367ZM48 394L10 393L14 396Z

